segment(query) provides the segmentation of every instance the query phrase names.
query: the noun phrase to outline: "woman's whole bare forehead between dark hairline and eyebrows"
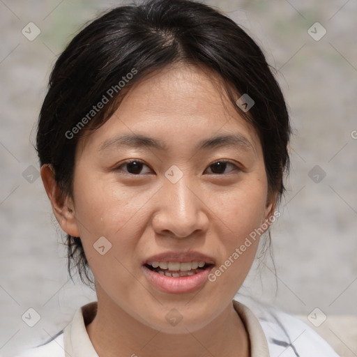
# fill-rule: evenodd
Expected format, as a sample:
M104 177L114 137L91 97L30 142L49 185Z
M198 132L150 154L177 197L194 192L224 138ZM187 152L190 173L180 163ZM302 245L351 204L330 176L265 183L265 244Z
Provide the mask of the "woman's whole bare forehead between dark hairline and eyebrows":
M230 133L259 150L255 129L231 105L222 79L209 70L176 63L132 86L114 115L86 138L86 146L100 151L125 134L155 137L165 149L170 143L183 148L195 142L197 147L204 138Z

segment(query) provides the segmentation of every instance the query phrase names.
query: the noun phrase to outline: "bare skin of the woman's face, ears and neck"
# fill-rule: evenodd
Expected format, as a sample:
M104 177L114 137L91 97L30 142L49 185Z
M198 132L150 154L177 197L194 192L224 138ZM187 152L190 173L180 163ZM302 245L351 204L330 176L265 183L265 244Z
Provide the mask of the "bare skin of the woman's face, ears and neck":
M190 293L159 291L142 271L144 259L169 250L202 252L219 267L273 214L276 195L268 195L257 132L222 93L220 79L196 66L160 70L133 86L105 125L79 142L73 197L59 199L51 167L41 169L56 218L63 231L81 237L96 279L98 313L86 329L101 357L250 356L231 300L258 240L215 282ZM161 139L168 151L99 150L123 133ZM196 149L202 139L231 133L250 146ZM141 172L122 165L128 159L142 160ZM220 171L212 167L218 160L230 163ZM165 177L172 165L183 173L176 183ZM93 248L100 236L112 243L105 255ZM173 308L182 316L176 326L165 319Z

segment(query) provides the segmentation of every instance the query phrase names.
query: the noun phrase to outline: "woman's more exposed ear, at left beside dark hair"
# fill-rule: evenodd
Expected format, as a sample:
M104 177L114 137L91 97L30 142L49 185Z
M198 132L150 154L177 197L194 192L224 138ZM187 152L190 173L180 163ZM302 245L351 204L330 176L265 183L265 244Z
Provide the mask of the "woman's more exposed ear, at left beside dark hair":
M59 189L54 180L54 168L50 164L45 164L41 167L40 174L59 225L70 236L79 237L73 199L68 196L65 197Z

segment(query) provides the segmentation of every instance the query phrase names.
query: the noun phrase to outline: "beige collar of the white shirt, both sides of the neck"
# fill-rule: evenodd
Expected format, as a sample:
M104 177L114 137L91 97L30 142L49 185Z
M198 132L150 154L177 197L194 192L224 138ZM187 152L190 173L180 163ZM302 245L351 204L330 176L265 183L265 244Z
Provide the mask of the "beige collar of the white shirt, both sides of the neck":
M259 324L257 317L252 311L233 301L233 306L241 317L250 338L251 357L269 357L268 342ZM72 322L64 329L64 350L66 357L98 357L96 350L86 332L88 325L97 313L97 301L88 303L75 312Z

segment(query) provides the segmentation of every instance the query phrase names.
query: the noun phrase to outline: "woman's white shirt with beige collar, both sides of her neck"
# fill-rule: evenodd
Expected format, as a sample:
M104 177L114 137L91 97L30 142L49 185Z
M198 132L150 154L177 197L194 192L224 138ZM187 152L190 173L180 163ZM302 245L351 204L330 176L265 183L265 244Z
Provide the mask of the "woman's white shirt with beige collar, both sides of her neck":
M248 331L251 357L338 357L327 342L296 317L259 303L249 308L234 300L233 305ZM70 324L54 339L17 357L98 357L86 332L96 309L96 301L79 307Z

